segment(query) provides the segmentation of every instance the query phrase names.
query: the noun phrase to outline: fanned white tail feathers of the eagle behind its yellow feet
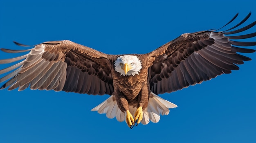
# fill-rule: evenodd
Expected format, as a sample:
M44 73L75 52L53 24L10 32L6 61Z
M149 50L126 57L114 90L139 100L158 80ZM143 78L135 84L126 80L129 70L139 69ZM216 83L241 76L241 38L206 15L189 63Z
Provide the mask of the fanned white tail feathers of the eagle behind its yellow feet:
M141 123L146 125L149 121L157 123L160 120L161 115L168 115L169 108L175 108L177 105L162 99L161 97L150 92L148 107L143 110L143 119ZM137 110L136 107L130 106L130 113L135 114ZM93 108L91 111L98 111L99 114L106 113L106 116L110 119L116 117L117 121L122 122L126 117L126 113L121 112L117 106L117 101L115 96L110 96L107 100L103 101L101 104Z

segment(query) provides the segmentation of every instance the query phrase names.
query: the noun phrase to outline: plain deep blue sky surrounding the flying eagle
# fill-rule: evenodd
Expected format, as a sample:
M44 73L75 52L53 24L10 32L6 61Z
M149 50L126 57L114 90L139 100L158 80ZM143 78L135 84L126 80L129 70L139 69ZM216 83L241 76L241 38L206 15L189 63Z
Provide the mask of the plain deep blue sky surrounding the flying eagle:
M104 53L147 53L182 33L218 29L238 12L236 22L252 11L249 24L256 20L255 5L255 0L0 1L0 47L71 40ZM161 95L178 107L159 123L133 130L90 111L108 95L0 90L0 142L255 143L256 53L243 55L253 60L240 70ZM0 59L12 56L0 53Z

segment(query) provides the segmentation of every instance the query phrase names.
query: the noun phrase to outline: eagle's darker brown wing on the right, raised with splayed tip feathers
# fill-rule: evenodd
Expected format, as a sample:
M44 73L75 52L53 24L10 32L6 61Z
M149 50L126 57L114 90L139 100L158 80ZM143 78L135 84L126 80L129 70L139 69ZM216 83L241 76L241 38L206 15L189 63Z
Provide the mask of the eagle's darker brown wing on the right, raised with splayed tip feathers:
M251 59L239 55L237 52L255 52L253 49L241 47L255 46L256 42L238 42L234 40L255 37L256 32L236 36L231 36L231 34L250 29L256 24L256 21L238 30L231 30L243 24L250 15L251 13L239 24L226 31L210 30L182 34L175 40L148 53L151 91L155 94L173 92L223 73L231 73L231 70L238 70L236 64L243 64L243 61Z

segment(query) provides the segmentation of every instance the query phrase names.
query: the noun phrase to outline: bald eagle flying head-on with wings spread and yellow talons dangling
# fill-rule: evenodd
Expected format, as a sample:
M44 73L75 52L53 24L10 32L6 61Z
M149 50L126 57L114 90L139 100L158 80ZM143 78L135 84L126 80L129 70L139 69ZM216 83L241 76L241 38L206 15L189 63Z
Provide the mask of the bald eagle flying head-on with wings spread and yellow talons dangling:
M14 63L0 70L0 74L8 73L0 83L9 79L0 89L9 87L8 90L18 88L21 91L30 88L110 95L92 111L106 113L108 118L116 117L120 122L125 120L130 128L149 121L157 123L160 114L167 115L169 108L177 107L158 94L231 73L231 70L239 69L236 64L251 60L237 52L255 52L242 47L255 46L256 42L236 40L255 37L256 32L232 35L256 24L254 21L234 30L250 15L226 31L185 33L146 54L109 55L69 40L43 42L27 50L1 48L6 53L29 53L0 60L0 64Z

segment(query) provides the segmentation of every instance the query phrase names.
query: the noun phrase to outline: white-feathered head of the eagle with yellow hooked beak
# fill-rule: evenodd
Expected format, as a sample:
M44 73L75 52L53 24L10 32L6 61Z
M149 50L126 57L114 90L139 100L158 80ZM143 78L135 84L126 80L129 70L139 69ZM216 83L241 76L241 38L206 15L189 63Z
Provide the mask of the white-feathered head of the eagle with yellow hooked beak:
M135 55L122 55L115 61L115 70L121 75L139 75L141 60Z

